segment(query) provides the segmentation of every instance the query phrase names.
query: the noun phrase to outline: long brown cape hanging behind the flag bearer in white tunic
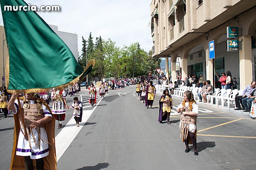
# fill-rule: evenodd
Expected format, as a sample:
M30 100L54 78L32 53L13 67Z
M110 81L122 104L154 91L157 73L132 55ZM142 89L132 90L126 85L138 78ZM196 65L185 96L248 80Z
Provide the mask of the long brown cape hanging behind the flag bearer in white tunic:
M21 99L21 98L20 98ZM49 144L49 155L44 157L44 170L56 170L57 169L57 159L56 159L56 150L55 150L55 119L52 111L47 105L46 101L43 101L43 104L50 111L52 115L52 120L45 123L45 130L48 137ZM14 134L13 134L13 147L12 147L12 160L10 165L10 170L26 170L24 156L17 156L17 144L18 136L20 132L20 121L19 113L13 114L14 117ZM36 160L33 160L34 168L36 169Z

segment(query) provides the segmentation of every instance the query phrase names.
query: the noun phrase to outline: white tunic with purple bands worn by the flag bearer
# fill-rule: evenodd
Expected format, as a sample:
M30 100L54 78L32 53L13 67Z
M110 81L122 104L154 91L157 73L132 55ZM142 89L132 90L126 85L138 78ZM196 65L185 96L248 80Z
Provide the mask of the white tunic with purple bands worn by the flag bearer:
M34 103L35 103L35 101L28 102L28 104L34 104ZM23 100L20 100L20 104L21 104L21 107L23 107ZM16 114L18 109L19 109L18 100L15 100L14 101L14 110L12 112L14 114ZM46 108L45 105L42 105L42 109L43 109L44 117L46 117L46 116L52 117L52 115L50 114L50 111ZM47 143L48 138L47 138L47 134L46 134L46 131L44 128L40 128L40 130L41 130L40 149L36 147L36 145L34 143L34 139L31 134L29 135L30 143L31 143L31 148L30 148L29 140L25 139L21 130L24 132L24 128L21 128L20 132L19 132L16 155L30 156L31 159L39 159L39 158L48 156L48 154L49 154L49 148L48 148L48 143ZM34 134L34 138L36 139L36 143L38 144L38 139L39 139L38 132L34 128L32 128L32 132ZM47 141L47 142L44 142L44 141Z

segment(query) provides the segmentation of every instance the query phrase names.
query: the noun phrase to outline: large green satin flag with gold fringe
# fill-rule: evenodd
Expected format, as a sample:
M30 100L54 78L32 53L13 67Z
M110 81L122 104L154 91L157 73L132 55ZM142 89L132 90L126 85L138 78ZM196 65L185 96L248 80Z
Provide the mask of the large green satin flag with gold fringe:
M6 63L6 87L14 91L44 92L76 83L92 71L80 67L68 46L36 14L5 11L5 6L28 6L23 0L0 0L9 55ZM7 9L7 8L6 8Z

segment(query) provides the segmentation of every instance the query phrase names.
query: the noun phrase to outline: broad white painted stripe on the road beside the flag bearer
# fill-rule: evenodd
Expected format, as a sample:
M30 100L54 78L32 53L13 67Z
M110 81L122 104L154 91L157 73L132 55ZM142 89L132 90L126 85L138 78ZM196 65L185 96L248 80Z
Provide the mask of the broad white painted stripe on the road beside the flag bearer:
M109 93L111 94L111 93ZM108 94L107 94L108 95ZM104 98L102 98L104 99ZM102 101L100 99L100 101ZM80 123L80 127L75 126L75 121L73 117L68 121L66 126L58 133L58 135L55 137L55 146L56 146L56 157L57 157L57 162L61 158L62 154L66 151L70 143L74 140L76 135L79 133L79 131L82 129L83 125L88 121L89 117L92 115L96 107L98 106L98 103L95 105L95 107L92 110L86 110L83 111L83 117L82 121ZM74 124L72 126L72 124Z

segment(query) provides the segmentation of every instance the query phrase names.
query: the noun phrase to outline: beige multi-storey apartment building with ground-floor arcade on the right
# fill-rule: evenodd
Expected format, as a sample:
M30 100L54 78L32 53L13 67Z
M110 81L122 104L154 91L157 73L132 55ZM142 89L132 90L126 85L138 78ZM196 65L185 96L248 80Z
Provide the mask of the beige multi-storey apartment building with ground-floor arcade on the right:
M166 71L171 57L172 77L180 57L182 79L213 82L215 72L231 71L240 89L256 79L256 0L152 0L150 14L153 57L166 58ZM239 38L227 38L227 27L238 27ZM228 40L239 40L239 50L228 51Z

